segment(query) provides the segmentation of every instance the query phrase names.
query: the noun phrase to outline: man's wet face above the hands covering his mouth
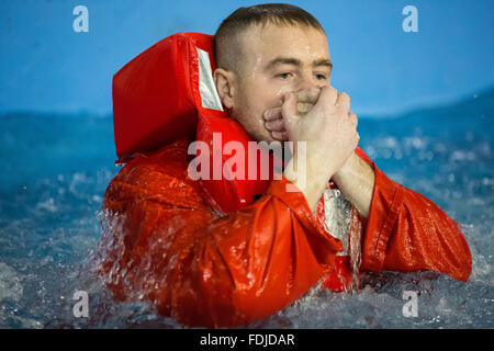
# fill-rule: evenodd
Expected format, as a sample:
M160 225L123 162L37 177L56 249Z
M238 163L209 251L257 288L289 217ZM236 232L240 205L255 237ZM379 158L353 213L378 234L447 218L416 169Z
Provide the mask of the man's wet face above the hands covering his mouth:
M231 115L250 137L270 143L262 117L267 110L281 106L289 92L329 84L326 35L313 27L268 23L250 26L239 41L244 56Z

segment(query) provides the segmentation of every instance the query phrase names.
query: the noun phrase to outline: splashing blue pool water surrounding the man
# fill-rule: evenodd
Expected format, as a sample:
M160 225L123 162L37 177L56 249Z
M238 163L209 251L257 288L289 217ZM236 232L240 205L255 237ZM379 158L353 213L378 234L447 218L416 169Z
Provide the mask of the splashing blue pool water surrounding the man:
M468 283L434 272L367 274L353 294L314 288L252 328L494 327L494 90L396 117L359 118L360 146L391 179L457 219ZM0 328L179 328L145 302L120 303L87 269L114 166L111 116L0 116ZM89 317L72 314L76 291ZM418 316L403 315L404 291Z

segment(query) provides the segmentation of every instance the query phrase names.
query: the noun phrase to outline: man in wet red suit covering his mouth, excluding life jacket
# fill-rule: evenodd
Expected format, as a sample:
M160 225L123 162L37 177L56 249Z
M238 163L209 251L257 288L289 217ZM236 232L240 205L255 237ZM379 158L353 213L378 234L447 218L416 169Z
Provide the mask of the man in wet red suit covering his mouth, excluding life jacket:
M330 86L327 38L315 18L289 4L240 8L214 39L214 82L229 116L255 140L306 143L306 168L287 167L254 204L218 217L187 176L188 143L136 157L103 203L114 216L100 270L117 297L149 298L187 326L246 325L328 274L337 280L341 250L358 258L359 271L434 270L468 280L471 254L456 222L357 155L357 116L349 97ZM295 147L290 162L297 157ZM361 230L341 241L313 215L330 203L329 183L358 212ZM287 192L289 184L300 191Z

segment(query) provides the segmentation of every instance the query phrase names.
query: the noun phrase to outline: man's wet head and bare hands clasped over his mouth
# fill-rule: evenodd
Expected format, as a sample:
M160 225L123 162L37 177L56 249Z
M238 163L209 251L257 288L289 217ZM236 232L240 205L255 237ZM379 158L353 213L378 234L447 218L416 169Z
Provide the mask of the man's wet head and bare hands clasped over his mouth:
M333 179L367 217L374 172L353 152L359 141L357 116L349 111L350 98L330 86L333 64L324 30L302 11L300 18L304 22L296 25L290 24L290 18L271 21L268 15L262 18L262 11L274 12L277 8L299 14L289 5L242 9L217 30L218 68L214 79L220 98L231 116L254 139L306 143L307 167L301 171L311 184L299 189L313 211ZM249 14L252 22L259 19L259 23L245 21ZM319 92L315 111L307 113ZM295 159L296 155L292 161ZM284 173L295 185L297 176Z

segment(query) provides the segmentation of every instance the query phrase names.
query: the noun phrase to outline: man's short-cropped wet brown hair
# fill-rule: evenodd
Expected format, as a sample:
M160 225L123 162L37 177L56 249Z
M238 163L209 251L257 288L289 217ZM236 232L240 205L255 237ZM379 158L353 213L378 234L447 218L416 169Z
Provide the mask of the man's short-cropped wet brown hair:
M324 33L321 23L307 11L288 3L263 3L239 8L228 15L214 34L214 56L217 67L237 71L243 54L236 36L252 24L272 23L280 26L304 25Z

